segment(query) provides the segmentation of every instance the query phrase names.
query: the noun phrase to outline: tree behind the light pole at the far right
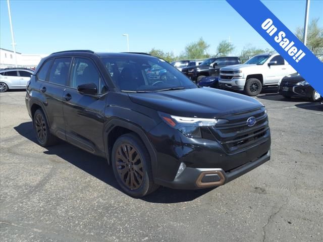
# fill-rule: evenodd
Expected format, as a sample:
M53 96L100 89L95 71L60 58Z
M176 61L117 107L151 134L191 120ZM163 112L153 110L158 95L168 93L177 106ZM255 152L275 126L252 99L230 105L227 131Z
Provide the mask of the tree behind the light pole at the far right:
M311 20L307 29L307 47L314 49L317 47L323 47L323 28L318 26L319 18L314 18ZM296 29L295 35L303 42L304 28L298 27Z

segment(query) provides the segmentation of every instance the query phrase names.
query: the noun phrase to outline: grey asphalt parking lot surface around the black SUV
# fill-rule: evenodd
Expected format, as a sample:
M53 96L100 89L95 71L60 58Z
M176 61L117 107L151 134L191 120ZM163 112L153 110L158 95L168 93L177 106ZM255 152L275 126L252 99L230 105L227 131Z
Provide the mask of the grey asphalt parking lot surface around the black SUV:
M323 241L323 105L258 96L270 161L212 190L122 193L105 160L36 144L25 92L1 93L1 241Z

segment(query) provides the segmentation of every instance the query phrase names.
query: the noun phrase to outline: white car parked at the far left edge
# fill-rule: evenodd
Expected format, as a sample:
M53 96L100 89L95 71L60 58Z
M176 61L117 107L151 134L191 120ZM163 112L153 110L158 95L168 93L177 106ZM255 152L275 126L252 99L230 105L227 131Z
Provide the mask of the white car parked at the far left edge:
M6 68L0 71L0 92L9 89L26 89L33 70L25 68Z

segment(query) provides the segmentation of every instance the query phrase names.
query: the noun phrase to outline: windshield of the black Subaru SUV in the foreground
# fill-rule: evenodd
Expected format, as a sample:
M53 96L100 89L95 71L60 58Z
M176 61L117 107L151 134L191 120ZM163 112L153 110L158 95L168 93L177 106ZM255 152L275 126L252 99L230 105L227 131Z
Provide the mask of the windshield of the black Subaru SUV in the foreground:
M103 64L121 91L151 92L197 86L175 67L155 57L106 57Z

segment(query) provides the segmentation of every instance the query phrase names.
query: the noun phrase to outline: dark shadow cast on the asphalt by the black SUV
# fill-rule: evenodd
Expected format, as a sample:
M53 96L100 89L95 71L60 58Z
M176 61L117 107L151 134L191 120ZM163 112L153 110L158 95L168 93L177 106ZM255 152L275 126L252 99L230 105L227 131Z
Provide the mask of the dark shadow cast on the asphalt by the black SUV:
M32 122L22 123L17 127L14 127L14 129L28 140L37 143ZM64 141L61 141L55 146L46 147L45 149L47 149L47 151L44 151L44 154L57 155L74 166L84 170L88 174L100 179L107 185L110 185L122 192L115 179L112 167L107 164L105 159L92 155ZM211 190L212 189L173 190L160 187L154 193L140 199L151 203L187 202L192 201Z

